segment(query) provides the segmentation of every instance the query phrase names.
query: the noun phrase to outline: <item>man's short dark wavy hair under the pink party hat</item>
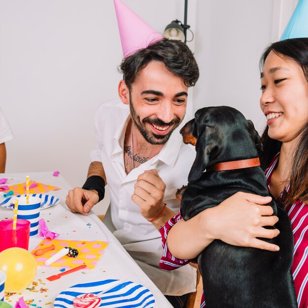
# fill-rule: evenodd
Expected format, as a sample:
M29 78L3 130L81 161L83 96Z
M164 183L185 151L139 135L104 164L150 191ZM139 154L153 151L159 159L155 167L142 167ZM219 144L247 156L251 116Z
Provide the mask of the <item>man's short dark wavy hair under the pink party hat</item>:
M123 59L119 70L129 90L140 70L151 61L164 63L168 71L184 80L187 87L193 87L199 78L198 64L187 45L163 38Z

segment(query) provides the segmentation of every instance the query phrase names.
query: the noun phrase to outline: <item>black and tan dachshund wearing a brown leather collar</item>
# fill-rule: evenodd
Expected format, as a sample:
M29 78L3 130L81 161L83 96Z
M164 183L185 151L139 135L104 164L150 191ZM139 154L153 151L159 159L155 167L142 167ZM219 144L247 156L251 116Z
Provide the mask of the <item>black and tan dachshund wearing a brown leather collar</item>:
M260 136L238 110L226 106L199 109L181 134L185 143L196 147L188 185L184 192L179 190L180 195L183 192L181 214L185 220L238 191L269 195L264 172L258 166ZM279 251L215 240L199 254L207 308L298 307L291 274L291 224L274 198L269 205L279 218L275 227L280 234L262 240L277 244Z

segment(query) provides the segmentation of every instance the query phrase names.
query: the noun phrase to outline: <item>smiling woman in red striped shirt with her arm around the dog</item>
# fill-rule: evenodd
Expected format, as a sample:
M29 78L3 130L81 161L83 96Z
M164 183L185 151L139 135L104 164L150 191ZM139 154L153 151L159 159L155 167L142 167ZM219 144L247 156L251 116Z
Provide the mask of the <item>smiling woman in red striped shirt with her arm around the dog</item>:
M267 120L262 135L261 166L269 192L291 221L296 297L298 306L307 308L308 38L271 44L261 57L260 68L260 106ZM187 264L216 239L235 246L279 250L277 246L258 240L260 237L273 238L279 233L275 229L275 235L266 234L270 230L264 226L277 223L273 212L266 213L268 202L270 199L262 200L261 196L239 192L189 220L184 221L181 214L174 216L160 229L164 248L161 268L172 270ZM280 237L286 240L283 232ZM206 289L204 294L211 298ZM232 296L229 301L232 303ZM232 304L225 306L234 307ZM201 307L205 307L204 296Z

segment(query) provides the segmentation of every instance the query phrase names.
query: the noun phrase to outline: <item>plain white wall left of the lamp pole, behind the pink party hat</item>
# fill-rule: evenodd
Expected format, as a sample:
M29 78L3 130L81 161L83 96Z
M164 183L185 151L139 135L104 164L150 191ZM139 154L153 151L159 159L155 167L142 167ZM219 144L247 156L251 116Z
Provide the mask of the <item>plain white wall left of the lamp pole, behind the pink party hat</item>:
M183 20L182 0L124 2L157 31ZM59 170L82 185L94 113L118 97L121 60L112 0L0 0L0 105L16 137L6 171Z

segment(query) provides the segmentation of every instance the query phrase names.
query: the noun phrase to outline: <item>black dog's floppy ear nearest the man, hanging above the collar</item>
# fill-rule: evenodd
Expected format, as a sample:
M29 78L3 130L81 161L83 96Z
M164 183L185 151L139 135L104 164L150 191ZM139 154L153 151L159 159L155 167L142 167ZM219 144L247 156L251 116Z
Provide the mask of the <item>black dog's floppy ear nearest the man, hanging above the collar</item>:
M207 129L204 129L197 139L196 158L191 166L188 182L196 182L201 178L203 171L209 163L210 154L217 146L216 144L208 143L207 139Z

